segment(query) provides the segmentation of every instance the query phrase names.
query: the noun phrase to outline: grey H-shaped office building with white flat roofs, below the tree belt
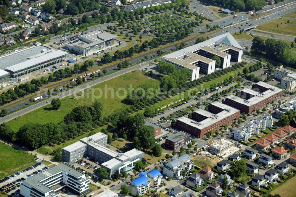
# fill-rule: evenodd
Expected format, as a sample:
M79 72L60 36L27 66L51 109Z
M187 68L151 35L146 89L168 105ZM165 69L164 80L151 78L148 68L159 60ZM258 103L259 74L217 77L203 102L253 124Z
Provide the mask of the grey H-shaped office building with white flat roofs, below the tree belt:
M108 136L104 133L96 133L80 141L62 148L62 160L76 162L83 157L89 157L94 162L99 162L101 168L106 168L109 178L115 171L120 173L134 168L137 161L144 157L144 152L136 148L125 153L115 152L107 147Z

